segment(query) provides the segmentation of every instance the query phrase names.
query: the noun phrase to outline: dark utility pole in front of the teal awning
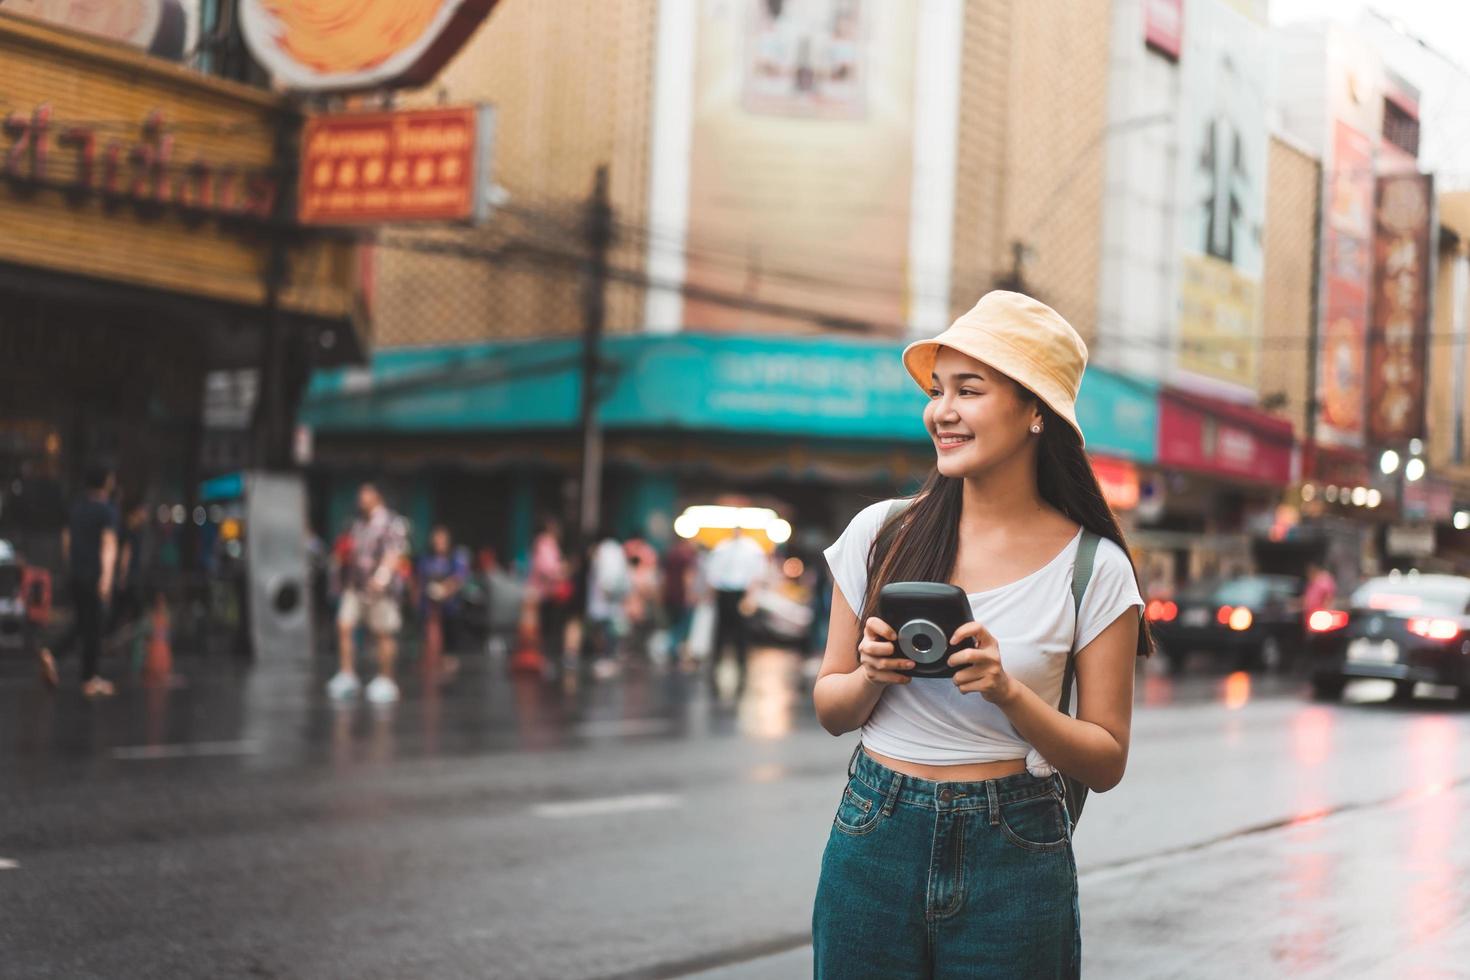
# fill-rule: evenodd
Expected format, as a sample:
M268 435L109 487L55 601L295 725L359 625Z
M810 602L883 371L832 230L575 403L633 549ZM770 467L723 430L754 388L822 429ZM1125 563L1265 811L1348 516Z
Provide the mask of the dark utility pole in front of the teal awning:
M607 248L613 239L613 206L607 194L607 165L597 167L584 219L587 259L582 263L582 480L578 513L578 552L589 544L601 516L603 428L597 395L603 328L607 319Z

